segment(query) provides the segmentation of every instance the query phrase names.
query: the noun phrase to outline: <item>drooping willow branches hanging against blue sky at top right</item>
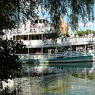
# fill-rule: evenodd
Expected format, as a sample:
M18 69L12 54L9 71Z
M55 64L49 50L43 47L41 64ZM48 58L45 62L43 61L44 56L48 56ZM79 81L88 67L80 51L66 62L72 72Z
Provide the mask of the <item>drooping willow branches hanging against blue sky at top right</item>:
M78 22L86 23L94 19L94 0L38 0L46 8L54 24L59 23L61 16L68 17L72 29L77 29Z

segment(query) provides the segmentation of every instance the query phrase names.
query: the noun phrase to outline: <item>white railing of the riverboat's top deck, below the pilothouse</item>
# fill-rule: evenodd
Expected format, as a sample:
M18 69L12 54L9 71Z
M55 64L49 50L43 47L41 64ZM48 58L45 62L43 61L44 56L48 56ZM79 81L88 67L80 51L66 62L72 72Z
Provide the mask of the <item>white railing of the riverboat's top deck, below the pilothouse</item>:
M31 27L28 26L28 28L21 28L21 29L14 29L12 30L13 34L17 35L23 35L23 34L27 34L27 33L31 33L31 34L43 34L43 33L52 33L55 32L55 29L52 25L47 24L45 26L45 24L37 24L36 25L32 25ZM49 31L49 32L48 32Z

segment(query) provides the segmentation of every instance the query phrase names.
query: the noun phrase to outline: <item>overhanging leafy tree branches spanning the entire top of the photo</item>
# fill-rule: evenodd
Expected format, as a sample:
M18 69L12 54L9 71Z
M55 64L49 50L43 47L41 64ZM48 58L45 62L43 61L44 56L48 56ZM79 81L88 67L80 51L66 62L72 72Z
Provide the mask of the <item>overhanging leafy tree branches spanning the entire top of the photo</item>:
M0 0L0 30L16 26L20 16L23 20L35 17L37 7L44 8L54 24L67 16L72 29L80 20L94 19L94 0Z

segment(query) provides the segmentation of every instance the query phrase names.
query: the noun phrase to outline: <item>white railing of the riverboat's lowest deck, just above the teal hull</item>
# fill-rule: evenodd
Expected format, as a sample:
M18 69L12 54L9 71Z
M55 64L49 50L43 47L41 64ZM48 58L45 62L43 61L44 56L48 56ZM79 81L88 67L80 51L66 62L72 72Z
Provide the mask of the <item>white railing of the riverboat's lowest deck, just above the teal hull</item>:
M55 58L67 58L67 57L78 57L84 56L84 52L76 51L66 51L66 52L57 52L57 53L40 53L40 54L17 54L20 59L55 59Z

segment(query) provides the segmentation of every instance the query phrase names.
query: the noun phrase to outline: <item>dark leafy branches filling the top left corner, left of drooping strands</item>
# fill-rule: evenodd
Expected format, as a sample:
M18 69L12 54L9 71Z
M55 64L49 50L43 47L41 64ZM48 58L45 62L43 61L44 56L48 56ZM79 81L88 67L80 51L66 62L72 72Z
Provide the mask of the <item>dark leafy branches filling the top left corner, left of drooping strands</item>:
M23 20L35 17L35 8L34 0L0 0L0 30L19 26L21 14Z

